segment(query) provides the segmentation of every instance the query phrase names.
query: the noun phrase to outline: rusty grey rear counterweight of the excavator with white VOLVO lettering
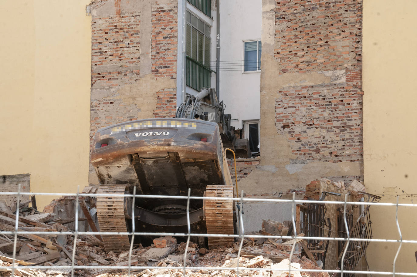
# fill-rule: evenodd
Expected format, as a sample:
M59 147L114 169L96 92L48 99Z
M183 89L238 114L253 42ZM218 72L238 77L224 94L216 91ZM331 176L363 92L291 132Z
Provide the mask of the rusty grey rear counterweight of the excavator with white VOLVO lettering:
M93 141L91 163L94 166L106 165L109 161L124 159L126 155L132 153L139 153L143 158L163 157L168 151L181 153L183 161L206 161L216 158L217 141L215 139L220 137L219 127L216 123L183 118L175 119L175 121L168 119L136 120L99 129ZM176 125L157 124L165 121L175 122ZM149 122L151 124L144 124ZM183 127L185 124L191 123L196 124L196 127ZM128 129L129 127L124 128L125 126L131 127ZM154 126L170 127L158 128ZM121 128L122 131L115 131L116 128ZM149 135L151 132L152 136ZM155 135L156 132L169 134ZM139 133L142 134L135 135ZM147 133L147 135L143 136L143 133ZM201 138L207 138L207 142L200 141ZM108 146L100 147L100 144L103 143Z

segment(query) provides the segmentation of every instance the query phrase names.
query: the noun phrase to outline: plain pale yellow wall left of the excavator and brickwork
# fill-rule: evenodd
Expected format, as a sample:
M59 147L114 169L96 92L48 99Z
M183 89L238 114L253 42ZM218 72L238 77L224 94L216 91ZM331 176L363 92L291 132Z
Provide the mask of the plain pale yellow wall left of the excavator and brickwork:
M0 175L30 173L33 192L88 185L88 0L3 0ZM37 196L38 207L56 198Z

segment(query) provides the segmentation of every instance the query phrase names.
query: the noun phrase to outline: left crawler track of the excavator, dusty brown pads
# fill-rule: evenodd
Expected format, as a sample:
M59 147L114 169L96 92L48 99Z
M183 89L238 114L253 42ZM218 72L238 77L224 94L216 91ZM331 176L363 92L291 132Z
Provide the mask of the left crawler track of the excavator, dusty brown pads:
M98 194L125 194L126 185L100 185ZM127 232L123 196L97 196L97 218L101 232ZM106 252L129 250L127 235L101 235Z

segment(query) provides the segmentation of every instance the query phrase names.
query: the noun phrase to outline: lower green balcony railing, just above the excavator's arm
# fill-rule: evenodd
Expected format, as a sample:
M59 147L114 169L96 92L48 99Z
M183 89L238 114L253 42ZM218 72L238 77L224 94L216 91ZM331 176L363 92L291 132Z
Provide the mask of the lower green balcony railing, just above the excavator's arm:
M187 57L186 62L186 85L199 91L201 88L210 86L210 73L212 71L201 63Z

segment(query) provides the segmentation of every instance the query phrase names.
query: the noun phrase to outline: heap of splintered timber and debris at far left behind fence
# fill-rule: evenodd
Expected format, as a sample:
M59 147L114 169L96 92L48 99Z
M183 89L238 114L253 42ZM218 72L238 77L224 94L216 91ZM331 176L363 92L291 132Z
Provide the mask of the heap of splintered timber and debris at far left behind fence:
M66 232L71 231L63 223L68 223L68 219L56 218L55 214L40 213L36 209L27 206L28 203L19 205L18 217L18 234L16 241L15 265L43 265L43 266L61 266L72 264L73 236L67 234L33 234L33 232ZM16 215L13 214L9 206L0 202L0 230L13 232L15 231ZM0 236L0 261L2 267L11 266L13 263L13 249L15 238L13 235L2 234ZM87 257L85 253L78 248L97 247L102 251L103 243L91 235L78 235L78 247L76 249L76 263ZM94 252L89 253L90 257L95 257ZM97 255L99 256L99 255ZM101 259L101 257L98 257ZM103 260L103 259L101 259ZM16 276L33 277L33 269L18 268L15 269ZM33 271L33 272L31 272ZM68 273L70 270L50 270L46 273ZM0 276L8 276L12 269L0 270ZM38 272L39 273L39 272ZM36 276L43 276L42 274Z

